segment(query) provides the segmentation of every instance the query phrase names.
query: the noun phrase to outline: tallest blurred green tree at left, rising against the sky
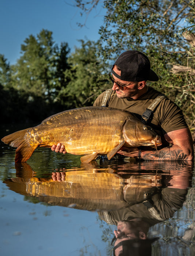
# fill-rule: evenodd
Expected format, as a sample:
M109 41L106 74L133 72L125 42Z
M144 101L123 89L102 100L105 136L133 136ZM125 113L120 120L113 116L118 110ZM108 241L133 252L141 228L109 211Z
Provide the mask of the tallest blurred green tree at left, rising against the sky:
M29 101L35 95L52 103L61 87L67 69L68 45L55 44L52 32L41 30L37 37L30 35L21 45L22 56L14 66L13 86L25 90Z

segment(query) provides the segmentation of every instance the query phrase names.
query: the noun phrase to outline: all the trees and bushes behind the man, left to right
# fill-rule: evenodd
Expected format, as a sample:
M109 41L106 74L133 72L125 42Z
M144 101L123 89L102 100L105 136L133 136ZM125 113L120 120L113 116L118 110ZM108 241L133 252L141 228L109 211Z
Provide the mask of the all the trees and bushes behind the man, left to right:
M181 107L191 131L195 130L194 46L182 36L193 34L194 0L75 0L82 15L102 2L104 26L97 42L80 40L71 53L57 45L52 32L42 29L21 44L21 55L10 65L0 54L1 122L39 124L51 114L90 106L112 84L108 72L122 51L139 50L149 56L160 77L148 85L165 93ZM84 26L85 24L78 24ZM191 72L174 72L173 65Z

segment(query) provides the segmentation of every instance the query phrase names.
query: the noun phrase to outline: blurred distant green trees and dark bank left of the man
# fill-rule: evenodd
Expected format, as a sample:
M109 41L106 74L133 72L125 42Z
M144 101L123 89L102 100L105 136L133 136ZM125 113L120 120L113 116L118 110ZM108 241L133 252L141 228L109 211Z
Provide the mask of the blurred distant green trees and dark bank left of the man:
M52 32L43 29L25 39L15 65L0 55L1 120L19 122L22 116L23 122L38 123L60 111L92 105L110 83L97 43L80 44L70 55L67 43L59 47Z

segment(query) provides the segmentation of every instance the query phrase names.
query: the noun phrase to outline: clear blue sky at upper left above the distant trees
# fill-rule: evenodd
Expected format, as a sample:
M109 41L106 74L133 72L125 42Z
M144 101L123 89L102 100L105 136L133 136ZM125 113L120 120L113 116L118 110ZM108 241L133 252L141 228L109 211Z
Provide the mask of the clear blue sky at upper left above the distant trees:
M53 40L60 45L67 42L71 51L79 46L77 40L98 40L98 29L103 24L105 9L93 10L86 27L79 29L77 22L84 22L80 10L71 0L1 0L0 1L0 54L10 64L20 56L20 45L30 34L36 36L42 29L53 32Z

